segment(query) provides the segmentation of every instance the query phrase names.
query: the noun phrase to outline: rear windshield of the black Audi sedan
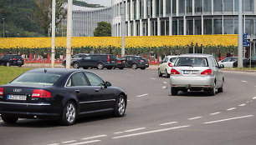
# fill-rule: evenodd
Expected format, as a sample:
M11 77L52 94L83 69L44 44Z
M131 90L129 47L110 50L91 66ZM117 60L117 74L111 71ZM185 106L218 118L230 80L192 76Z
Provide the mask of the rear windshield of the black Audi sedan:
M57 82L59 77L59 74L26 72L23 73L23 75L17 77L11 83L54 85L54 83Z

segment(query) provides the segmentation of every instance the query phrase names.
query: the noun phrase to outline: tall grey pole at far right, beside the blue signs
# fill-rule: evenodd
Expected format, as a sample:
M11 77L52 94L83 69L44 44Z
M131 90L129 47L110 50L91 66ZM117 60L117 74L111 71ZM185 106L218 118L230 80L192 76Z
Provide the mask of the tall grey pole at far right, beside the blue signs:
M238 67L243 67L243 0L238 2Z

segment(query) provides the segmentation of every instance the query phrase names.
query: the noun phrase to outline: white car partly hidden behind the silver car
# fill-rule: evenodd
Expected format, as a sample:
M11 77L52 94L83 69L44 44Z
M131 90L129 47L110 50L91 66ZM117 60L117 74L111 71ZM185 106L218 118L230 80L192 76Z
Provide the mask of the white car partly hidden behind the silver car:
M177 56L166 56L160 62L158 66L158 76L161 77L162 74L165 74L166 77L170 77L171 69L176 61Z

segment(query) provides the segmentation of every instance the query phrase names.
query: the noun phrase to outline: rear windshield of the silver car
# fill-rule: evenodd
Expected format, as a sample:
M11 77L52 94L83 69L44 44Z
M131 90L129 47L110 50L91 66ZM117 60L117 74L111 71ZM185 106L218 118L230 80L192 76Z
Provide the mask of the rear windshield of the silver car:
M208 63L206 57L178 57L174 66L207 67Z

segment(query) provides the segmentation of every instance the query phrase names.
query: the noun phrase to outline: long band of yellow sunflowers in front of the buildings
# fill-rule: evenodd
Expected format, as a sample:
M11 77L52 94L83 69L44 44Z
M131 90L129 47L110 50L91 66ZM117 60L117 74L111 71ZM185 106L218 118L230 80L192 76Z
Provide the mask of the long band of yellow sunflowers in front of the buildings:
M51 37L0 38L0 48L51 47ZM66 47L66 37L56 37L55 47ZM238 35L181 35L125 37L125 47L186 46L238 46ZM72 37L72 47L120 47L121 37Z

